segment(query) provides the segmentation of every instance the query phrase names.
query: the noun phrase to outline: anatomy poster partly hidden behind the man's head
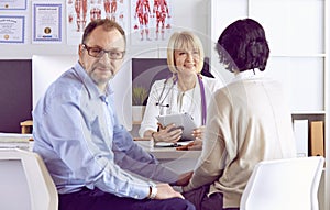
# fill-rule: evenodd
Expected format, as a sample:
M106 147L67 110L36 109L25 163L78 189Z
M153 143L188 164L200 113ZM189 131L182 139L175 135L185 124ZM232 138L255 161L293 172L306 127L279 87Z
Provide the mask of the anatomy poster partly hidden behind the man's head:
M130 0L67 0L67 44L78 45L84 29L96 19L110 19L125 31L129 21Z

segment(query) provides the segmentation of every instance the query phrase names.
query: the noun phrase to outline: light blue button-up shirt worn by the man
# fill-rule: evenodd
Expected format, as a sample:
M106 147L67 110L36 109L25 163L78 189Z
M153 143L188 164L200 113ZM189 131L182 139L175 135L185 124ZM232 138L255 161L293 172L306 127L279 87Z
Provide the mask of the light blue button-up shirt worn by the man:
M150 183L132 173L160 181L177 180L175 172L133 142L113 108L110 86L101 93L78 63L38 101L33 110L33 151L43 157L59 194L97 187L143 199Z

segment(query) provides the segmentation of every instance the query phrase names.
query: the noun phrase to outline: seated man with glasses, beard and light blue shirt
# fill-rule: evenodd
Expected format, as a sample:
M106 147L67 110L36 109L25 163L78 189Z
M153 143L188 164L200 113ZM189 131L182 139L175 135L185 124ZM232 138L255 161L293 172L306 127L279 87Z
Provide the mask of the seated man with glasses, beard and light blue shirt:
M33 111L33 150L56 184L59 210L195 210L168 184L148 180L179 185L186 175L160 165L118 122L109 81L122 65L125 45L116 22L88 24L79 62L50 86Z

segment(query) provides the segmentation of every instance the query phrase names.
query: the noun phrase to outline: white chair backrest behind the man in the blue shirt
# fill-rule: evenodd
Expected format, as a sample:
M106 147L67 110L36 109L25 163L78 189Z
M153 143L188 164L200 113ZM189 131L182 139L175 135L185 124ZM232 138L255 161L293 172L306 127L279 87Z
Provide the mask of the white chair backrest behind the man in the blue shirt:
M0 209L58 209L55 184L36 153L0 150Z

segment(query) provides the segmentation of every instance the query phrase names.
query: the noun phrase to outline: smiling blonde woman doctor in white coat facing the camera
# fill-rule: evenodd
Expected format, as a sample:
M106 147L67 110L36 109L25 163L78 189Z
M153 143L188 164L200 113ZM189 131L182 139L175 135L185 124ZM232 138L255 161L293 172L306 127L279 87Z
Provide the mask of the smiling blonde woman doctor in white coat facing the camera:
M222 87L219 80L201 76L204 57L201 42L191 32L175 32L170 36L167 65L173 75L153 84L139 131L141 137L153 139L155 143L179 141L182 130L174 130L175 124L157 124L156 117L187 112L198 126L191 133L197 141L188 150L201 147L207 104L212 92Z

